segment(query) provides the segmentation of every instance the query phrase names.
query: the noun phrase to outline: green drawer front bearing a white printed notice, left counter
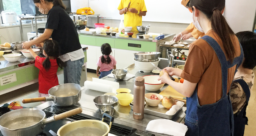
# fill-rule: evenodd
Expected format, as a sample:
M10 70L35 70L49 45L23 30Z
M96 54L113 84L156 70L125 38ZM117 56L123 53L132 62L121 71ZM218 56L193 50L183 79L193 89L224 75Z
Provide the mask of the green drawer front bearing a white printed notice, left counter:
M13 74L13 73L16 73L17 81L13 82L13 83L10 83L10 84L0 86L0 90L4 90L4 89L7 89L7 88L10 88L10 87L13 87L13 86L16 86L16 85L23 84L23 83L27 82L26 68L19 69L19 70L16 70L16 71L12 71L12 72L8 72L8 73L5 73L5 74L1 74L0 77L4 77L5 75L9 75L9 74Z

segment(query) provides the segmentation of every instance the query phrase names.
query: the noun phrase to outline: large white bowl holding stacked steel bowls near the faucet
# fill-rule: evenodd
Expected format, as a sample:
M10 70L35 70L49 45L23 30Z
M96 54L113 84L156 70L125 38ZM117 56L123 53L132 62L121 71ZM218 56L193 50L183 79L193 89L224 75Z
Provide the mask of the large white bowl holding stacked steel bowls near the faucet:
M133 60L134 60L134 58L133 58ZM160 59L159 59L159 61L152 62L152 63L155 64L156 66L158 66L159 62L160 62ZM140 71L143 71L143 72L150 72L155 69L155 67L150 62L139 62L139 61L134 60L134 64Z

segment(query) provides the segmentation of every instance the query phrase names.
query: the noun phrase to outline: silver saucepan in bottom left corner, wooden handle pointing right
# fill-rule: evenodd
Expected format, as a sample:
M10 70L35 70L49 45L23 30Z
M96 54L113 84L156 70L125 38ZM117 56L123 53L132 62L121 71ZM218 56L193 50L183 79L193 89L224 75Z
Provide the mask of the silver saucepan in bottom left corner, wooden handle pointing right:
M43 132L45 124L82 113L82 111L82 108L76 108L46 118L41 109L17 109L0 117L0 130L4 136L37 136Z

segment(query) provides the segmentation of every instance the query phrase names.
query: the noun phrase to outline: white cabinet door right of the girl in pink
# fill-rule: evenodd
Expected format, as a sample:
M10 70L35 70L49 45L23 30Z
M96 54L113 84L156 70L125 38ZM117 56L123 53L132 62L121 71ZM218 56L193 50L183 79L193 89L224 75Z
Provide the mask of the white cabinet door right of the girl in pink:
M121 69L130 66L133 64L133 53L138 51L129 51L129 50L122 50L122 49L115 49L115 59L117 61L116 68Z

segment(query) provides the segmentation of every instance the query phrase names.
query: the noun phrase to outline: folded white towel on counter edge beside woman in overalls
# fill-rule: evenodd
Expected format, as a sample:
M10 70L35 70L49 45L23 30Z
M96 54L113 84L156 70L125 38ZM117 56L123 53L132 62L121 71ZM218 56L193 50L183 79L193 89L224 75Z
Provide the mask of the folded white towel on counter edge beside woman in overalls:
M147 124L146 131L171 136L185 136L187 132L187 126L168 119L156 119L151 120Z

